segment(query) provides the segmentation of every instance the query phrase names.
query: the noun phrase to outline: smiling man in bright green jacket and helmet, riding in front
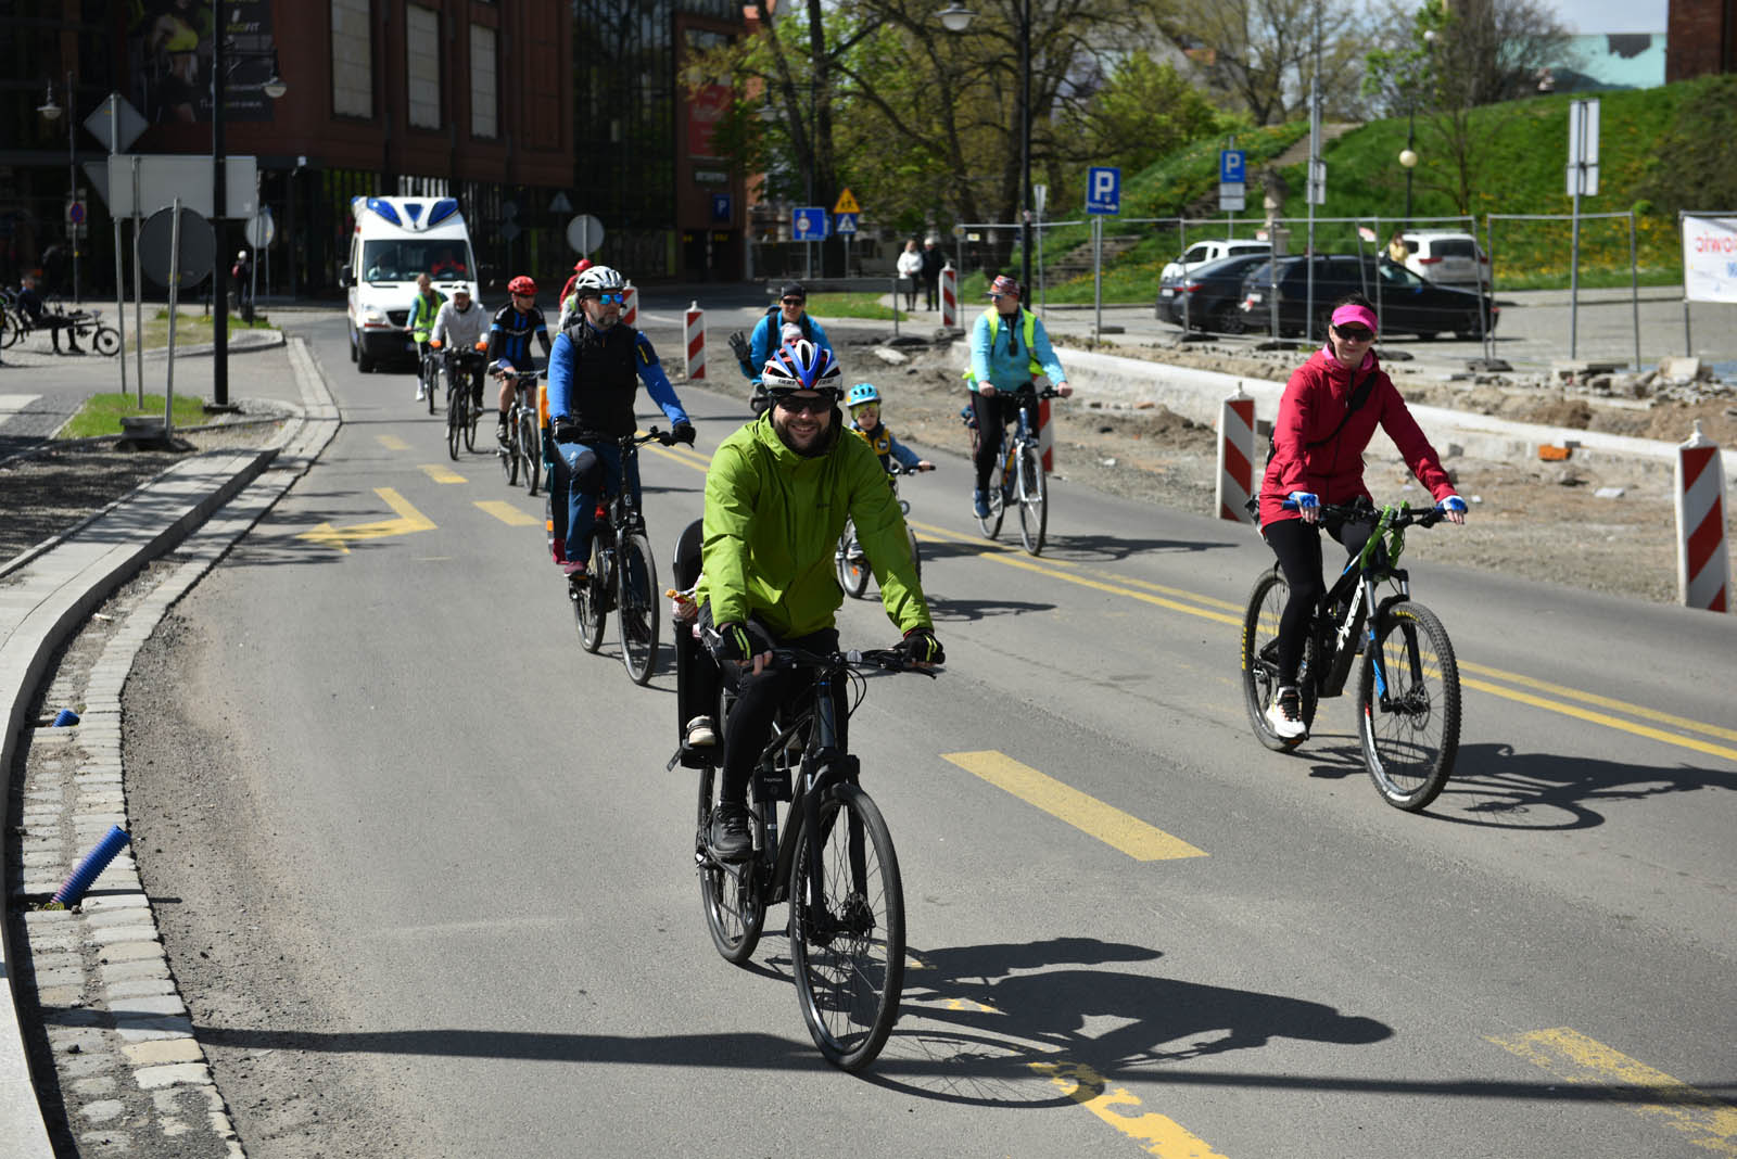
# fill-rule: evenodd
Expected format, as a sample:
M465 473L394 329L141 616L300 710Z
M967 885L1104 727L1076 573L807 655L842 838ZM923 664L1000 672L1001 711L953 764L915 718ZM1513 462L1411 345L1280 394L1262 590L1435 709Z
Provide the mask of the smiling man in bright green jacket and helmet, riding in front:
M834 550L846 517L874 567L888 618L903 632L900 649L915 663L945 659L922 599L886 472L874 449L842 437L842 383L832 350L792 342L773 352L763 377L773 406L724 439L705 475L702 580L695 592L702 625L712 625L724 678L736 703L724 722L723 782L712 819L712 852L752 852L747 786L771 736L780 703L801 691L806 673L768 670L775 644L834 652L834 612L844 593ZM844 689L835 694L842 701ZM691 703L688 697L681 697ZM716 696L710 701L716 703ZM841 743L846 711L837 713Z

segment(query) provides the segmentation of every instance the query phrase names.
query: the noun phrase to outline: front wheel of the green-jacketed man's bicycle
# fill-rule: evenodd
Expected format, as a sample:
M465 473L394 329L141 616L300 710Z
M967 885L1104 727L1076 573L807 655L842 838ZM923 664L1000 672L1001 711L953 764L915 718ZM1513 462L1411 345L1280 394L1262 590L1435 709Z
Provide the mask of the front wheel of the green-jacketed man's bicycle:
M827 1062L846 1071L874 1062L905 987L905 894L886 819L855 784L827 789L818 831L804 828L796 843L790 963L802 1020Z

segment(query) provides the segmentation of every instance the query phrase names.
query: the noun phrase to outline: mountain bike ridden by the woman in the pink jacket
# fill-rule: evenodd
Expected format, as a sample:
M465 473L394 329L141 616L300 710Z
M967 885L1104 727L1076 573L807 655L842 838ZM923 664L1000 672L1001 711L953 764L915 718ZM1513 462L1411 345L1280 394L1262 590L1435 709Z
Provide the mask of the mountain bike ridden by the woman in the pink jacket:
M1367 503L1320 505L1322 517L1376 515L1364 550L1346 560L1339 580L1308 621L1298 696L1303 724L1315 722L1320 699L1339 696L1362 654L1357 682L1357 732L1376 791L1395 809L1417 812L1436 798L1459 751L1459 665L1442 621L1410 599L1410 576L1398 567L1405 527L1431 527L1438 508L1410 510ZM1242 616L1242 699L1261 744L1287 751L1301 737L1280 737L1266 724L1278 694L1278 618L1291 597L1275 564L1261 573Z

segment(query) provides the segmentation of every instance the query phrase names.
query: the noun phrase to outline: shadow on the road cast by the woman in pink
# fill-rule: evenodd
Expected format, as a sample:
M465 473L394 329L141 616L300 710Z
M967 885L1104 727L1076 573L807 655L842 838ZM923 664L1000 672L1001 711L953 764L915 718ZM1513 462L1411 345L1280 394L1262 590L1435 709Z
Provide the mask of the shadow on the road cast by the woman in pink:
M1589 829L1607 821L1596 805L1704 789L1734 791L1737 774L1466 744L1430 812L1442 821L1496 829Z

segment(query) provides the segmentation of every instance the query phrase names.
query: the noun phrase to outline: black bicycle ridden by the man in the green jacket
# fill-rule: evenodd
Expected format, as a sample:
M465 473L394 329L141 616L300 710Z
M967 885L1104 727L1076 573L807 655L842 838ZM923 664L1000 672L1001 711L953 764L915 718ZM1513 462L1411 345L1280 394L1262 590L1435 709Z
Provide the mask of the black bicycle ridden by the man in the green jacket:
M693 862L700 873L705 928L724 961L743 965L759 944L766 909L790 904L790 968L802 1022L820 1053L860 1071L881 1053L905 987L905 890L893 835L862 789L862 763L839 746L834 685L849 680L862 703L858 670L915 668L898 651L834 652L773 649L773 665L815 675L808 692L780 710L773 736L749 781L754 854L719 861L710 852L712 812L723 772L700 769ZM728 720L726 692L717 720ZM855 711L855 704L849 711ZM684 751L677 750L674 769ZM778 803L789 802L780 836Z

